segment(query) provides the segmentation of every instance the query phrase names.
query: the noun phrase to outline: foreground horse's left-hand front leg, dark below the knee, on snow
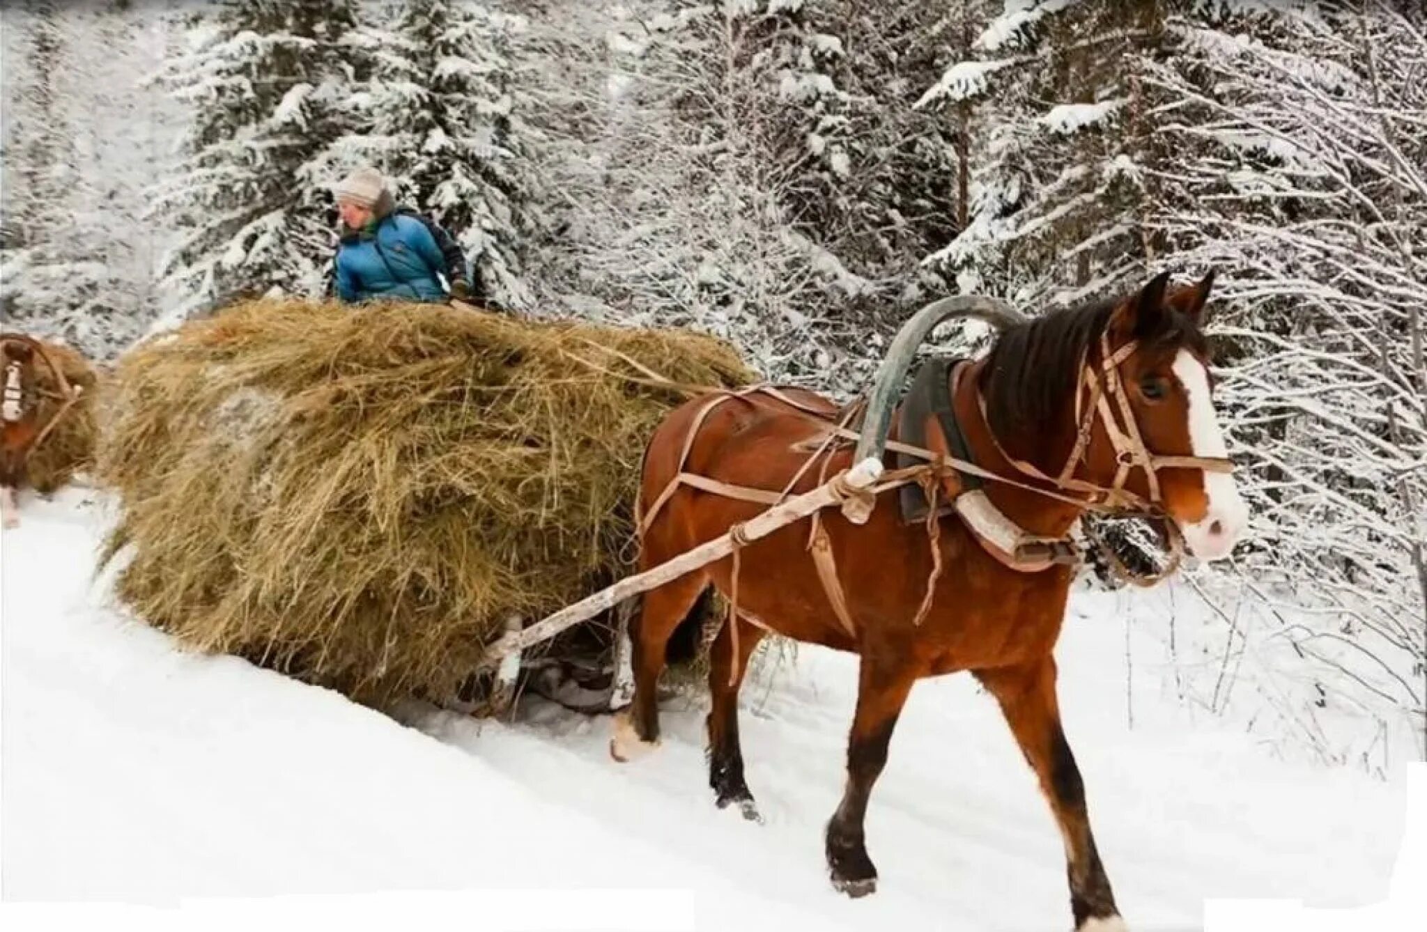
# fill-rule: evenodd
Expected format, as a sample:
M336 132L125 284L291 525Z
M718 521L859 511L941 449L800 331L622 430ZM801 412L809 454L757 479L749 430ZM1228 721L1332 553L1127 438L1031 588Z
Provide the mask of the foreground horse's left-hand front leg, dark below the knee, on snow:
M868 798L886 765L892 729L913 682L916 674L905 664L863 654L858 711L848 738L848 784L826 834L832 885L849 896L866 896L878 886L878 869L868 856L863 825Z

